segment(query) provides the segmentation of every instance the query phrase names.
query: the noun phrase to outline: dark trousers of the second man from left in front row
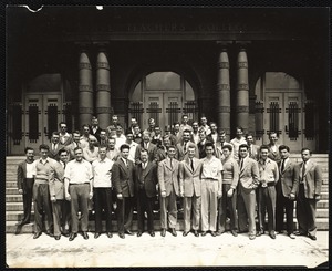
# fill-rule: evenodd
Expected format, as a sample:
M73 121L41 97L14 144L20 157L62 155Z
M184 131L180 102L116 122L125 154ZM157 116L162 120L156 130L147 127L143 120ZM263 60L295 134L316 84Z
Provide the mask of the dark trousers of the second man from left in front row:
M33 210L34 210L34 232L42 232L43 216L45 217L45 230L48 232L53 228L52 210L49 184L33 185Z

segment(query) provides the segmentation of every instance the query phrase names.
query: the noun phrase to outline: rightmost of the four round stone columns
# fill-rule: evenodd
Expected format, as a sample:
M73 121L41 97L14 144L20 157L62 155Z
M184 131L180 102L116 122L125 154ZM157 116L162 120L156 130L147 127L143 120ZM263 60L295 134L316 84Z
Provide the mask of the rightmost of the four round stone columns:
M249 127L249 84L248 59L243 46L240 48L237 60L237 125L248 132Z

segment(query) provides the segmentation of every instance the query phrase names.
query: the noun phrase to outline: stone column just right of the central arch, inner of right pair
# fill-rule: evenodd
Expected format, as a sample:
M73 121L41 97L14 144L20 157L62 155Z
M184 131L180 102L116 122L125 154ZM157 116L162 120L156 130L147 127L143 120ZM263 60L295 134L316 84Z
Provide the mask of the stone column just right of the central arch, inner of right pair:
M230 135L230 87L229 87L229 60L226 46L221 48L218 59L218 127Z

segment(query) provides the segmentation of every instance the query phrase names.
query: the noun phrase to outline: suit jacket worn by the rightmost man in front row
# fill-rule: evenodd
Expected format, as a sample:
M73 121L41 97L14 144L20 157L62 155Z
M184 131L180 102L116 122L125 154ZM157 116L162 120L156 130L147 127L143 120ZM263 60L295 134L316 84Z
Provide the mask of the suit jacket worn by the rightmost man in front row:
M299 181L302 180L302 166L303 161L298 165ZM313 199L314 195L321 194L322 188L322 170L321 167L313 160L309 159L305 165L303 176L304 181L304 196L305 198Z

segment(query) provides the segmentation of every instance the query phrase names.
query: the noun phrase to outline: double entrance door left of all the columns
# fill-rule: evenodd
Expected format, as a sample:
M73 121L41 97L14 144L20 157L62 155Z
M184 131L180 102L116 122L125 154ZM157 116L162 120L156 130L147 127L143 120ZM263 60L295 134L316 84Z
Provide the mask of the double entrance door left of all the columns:
M27 94L25 96L25 146L35 153L40 144L50 144L52 132L59 131L61 122L61 94Z

